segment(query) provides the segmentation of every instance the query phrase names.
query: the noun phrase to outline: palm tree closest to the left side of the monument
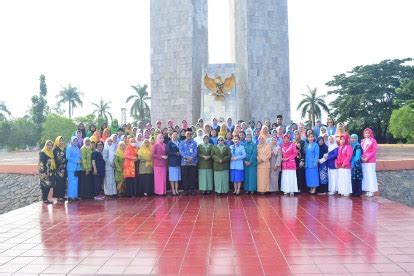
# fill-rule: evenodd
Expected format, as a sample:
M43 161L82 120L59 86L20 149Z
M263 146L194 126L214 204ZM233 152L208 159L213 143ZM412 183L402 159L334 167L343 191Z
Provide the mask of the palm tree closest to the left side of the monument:
M131 117L135 118L139 121L145 121L146 119L149 119L149 113L150 113L150 107L146 103L146 101L150 101L151 97L148 96L148 85L131 85L131 88L134 89L135 93L134 95L129 96L126 99L126 102L133 101L131 106Z

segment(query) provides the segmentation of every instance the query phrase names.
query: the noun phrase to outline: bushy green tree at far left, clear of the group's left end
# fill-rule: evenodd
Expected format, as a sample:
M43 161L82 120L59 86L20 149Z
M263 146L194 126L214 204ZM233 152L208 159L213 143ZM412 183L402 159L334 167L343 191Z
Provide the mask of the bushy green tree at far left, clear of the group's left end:
M14 150L36 146L39 139L30 131L35 128L36 124L27 116L11 120L7 147Z

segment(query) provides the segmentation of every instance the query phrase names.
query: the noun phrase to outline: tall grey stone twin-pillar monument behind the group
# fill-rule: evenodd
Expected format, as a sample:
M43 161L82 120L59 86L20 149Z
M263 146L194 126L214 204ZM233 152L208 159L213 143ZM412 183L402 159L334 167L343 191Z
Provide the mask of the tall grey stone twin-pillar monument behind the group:
M287 0L228 0L235 63L208 63L207 0L151 0L151 119L290 119ZM205 77L235 84L220 97Z

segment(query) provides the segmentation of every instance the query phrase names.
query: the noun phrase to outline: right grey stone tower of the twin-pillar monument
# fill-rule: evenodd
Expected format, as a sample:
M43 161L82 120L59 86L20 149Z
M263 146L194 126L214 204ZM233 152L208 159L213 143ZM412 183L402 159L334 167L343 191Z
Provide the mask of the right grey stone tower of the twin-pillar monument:
M235 0L237 89L245 119L290 119L287 0Z

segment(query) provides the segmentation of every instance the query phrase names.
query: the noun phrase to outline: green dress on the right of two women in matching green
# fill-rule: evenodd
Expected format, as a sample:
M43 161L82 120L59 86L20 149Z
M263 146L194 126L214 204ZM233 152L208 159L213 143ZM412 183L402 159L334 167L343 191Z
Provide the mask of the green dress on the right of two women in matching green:
M229 170L231 152L226 146L214 146L211 155L213 158L214 187L216 193L225 194L229 192ZM220 163L220 160L222 163Z

